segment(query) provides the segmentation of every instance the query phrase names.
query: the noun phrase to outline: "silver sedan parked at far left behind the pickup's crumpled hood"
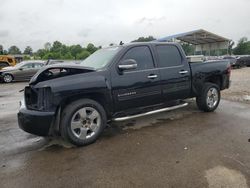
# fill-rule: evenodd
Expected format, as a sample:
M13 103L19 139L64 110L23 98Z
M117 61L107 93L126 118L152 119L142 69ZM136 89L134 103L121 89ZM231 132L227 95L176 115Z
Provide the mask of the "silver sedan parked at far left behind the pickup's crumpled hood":
M13 67L5 67L0 71L0 80L6 83L30 80L44 65L44 61L23 61Z

